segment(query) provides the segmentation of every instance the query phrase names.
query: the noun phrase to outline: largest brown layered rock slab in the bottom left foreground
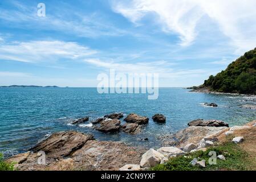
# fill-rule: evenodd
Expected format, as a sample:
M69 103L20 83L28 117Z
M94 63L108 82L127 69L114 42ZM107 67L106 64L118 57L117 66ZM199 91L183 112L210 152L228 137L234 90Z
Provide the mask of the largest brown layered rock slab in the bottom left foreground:
M38 151L46 153L46 165L38 164ZM34 151L34 152L32 152ZM65 131L52 134L31 148L31 152L7 159L23 170L118 170L126 164L139 164L145 149L130 147L121 142L97 141L92 135Z

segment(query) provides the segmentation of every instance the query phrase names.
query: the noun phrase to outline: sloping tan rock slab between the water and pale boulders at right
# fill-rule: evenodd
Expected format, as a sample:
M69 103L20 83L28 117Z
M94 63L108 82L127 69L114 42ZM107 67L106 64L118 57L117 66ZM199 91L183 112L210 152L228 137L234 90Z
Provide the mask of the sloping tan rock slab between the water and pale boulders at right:
M225 129L226 127L190 126L175 134L162 135L157 138L162 141L163 146L176 146L180 148L189 143L198 143L205 136L216 135Z

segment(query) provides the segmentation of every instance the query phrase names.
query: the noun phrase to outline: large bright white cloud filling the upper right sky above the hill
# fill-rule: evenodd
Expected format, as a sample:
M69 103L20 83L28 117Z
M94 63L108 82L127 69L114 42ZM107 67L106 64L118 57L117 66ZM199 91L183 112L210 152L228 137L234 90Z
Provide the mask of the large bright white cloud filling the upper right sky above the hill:
M255 7L254 0L112 1L112 9L131 22L138 23L149 13L156 14L162 30L180 35L183 46L188 46L196 38L200 31L196 26L202 16L209 16L218 24L221 32L230 38L230 45L237 48L238 54L256 47Z

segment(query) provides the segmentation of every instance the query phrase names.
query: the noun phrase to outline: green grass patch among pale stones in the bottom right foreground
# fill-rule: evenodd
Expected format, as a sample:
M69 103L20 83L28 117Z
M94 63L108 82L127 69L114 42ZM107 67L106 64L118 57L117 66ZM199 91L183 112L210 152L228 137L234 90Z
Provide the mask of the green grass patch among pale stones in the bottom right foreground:
M216 151L218 155L224 155L226 160L217 159L216 165L209 164L209 152ZM186 156L186 157L184 157ZM243 151L237 144L226 142L220 146L208 148L206 151L197 151L184 156L170 158L165 164L153 167L154 171L211 171L211 170L249 170L251 162L247 152ZM194 158L206 160L206 167L192 166L189 164Z

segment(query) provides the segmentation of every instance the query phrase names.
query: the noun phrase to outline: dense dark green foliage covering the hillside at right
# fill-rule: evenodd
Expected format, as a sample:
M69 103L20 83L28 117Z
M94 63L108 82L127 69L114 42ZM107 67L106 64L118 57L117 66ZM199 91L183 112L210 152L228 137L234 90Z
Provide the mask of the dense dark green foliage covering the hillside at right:
M256 94L256 48L239 57L225 71L211 75L202 86L217 92Z

